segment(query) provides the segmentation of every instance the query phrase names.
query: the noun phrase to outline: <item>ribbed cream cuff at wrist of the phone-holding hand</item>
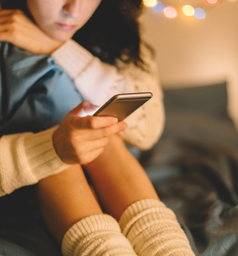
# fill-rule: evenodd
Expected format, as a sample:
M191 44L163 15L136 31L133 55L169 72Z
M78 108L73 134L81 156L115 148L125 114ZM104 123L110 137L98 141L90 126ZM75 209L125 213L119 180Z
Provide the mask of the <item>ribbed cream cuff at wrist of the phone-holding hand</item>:
M53 145L52 136L57 127L32 134L24 139L27 162L37 181L70 167L69 164L62 162Z

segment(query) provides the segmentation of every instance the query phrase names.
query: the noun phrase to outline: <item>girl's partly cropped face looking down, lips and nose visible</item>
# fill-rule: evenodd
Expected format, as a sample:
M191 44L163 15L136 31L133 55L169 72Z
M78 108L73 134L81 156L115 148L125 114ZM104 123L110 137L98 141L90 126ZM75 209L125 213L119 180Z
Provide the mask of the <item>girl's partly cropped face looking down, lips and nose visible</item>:
M101 1L27 0L27 5L40 29L55 40L66 41L84 26Z

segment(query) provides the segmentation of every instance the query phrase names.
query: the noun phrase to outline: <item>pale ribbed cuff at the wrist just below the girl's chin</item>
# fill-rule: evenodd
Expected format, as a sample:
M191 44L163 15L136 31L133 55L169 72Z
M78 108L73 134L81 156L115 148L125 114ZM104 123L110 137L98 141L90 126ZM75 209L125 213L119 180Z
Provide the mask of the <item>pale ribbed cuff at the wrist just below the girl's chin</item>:
M51 54L60 67L67 72L71 79L76 79L95 58L74 40L68 40Z

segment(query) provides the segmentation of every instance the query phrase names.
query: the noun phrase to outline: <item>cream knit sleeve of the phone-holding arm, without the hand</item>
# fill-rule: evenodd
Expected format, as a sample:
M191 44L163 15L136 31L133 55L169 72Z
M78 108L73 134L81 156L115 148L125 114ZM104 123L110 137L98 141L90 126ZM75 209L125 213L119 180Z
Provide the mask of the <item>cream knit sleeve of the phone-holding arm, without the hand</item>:
M4 135L0 139L0 196L69 167L61 161L52 143L57 127L39 133Z

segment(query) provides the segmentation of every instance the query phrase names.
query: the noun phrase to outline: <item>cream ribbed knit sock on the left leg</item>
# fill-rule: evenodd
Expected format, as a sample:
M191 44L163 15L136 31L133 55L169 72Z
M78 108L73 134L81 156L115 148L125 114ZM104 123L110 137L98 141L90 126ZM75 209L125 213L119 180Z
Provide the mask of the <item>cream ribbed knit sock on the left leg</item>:
M114 218L99 214L83 218L71 227L62 241L64 256L134 256L130 242Z

